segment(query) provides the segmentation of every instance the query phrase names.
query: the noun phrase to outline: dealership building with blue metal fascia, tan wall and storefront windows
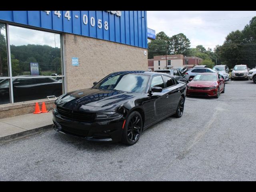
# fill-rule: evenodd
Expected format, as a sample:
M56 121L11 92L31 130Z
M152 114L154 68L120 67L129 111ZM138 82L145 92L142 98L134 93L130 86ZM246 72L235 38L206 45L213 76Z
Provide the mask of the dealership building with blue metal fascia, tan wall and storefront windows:
M146 11L0 11L0 118L37 101L52 108L48 96L112 72L147 70L147 36Z

